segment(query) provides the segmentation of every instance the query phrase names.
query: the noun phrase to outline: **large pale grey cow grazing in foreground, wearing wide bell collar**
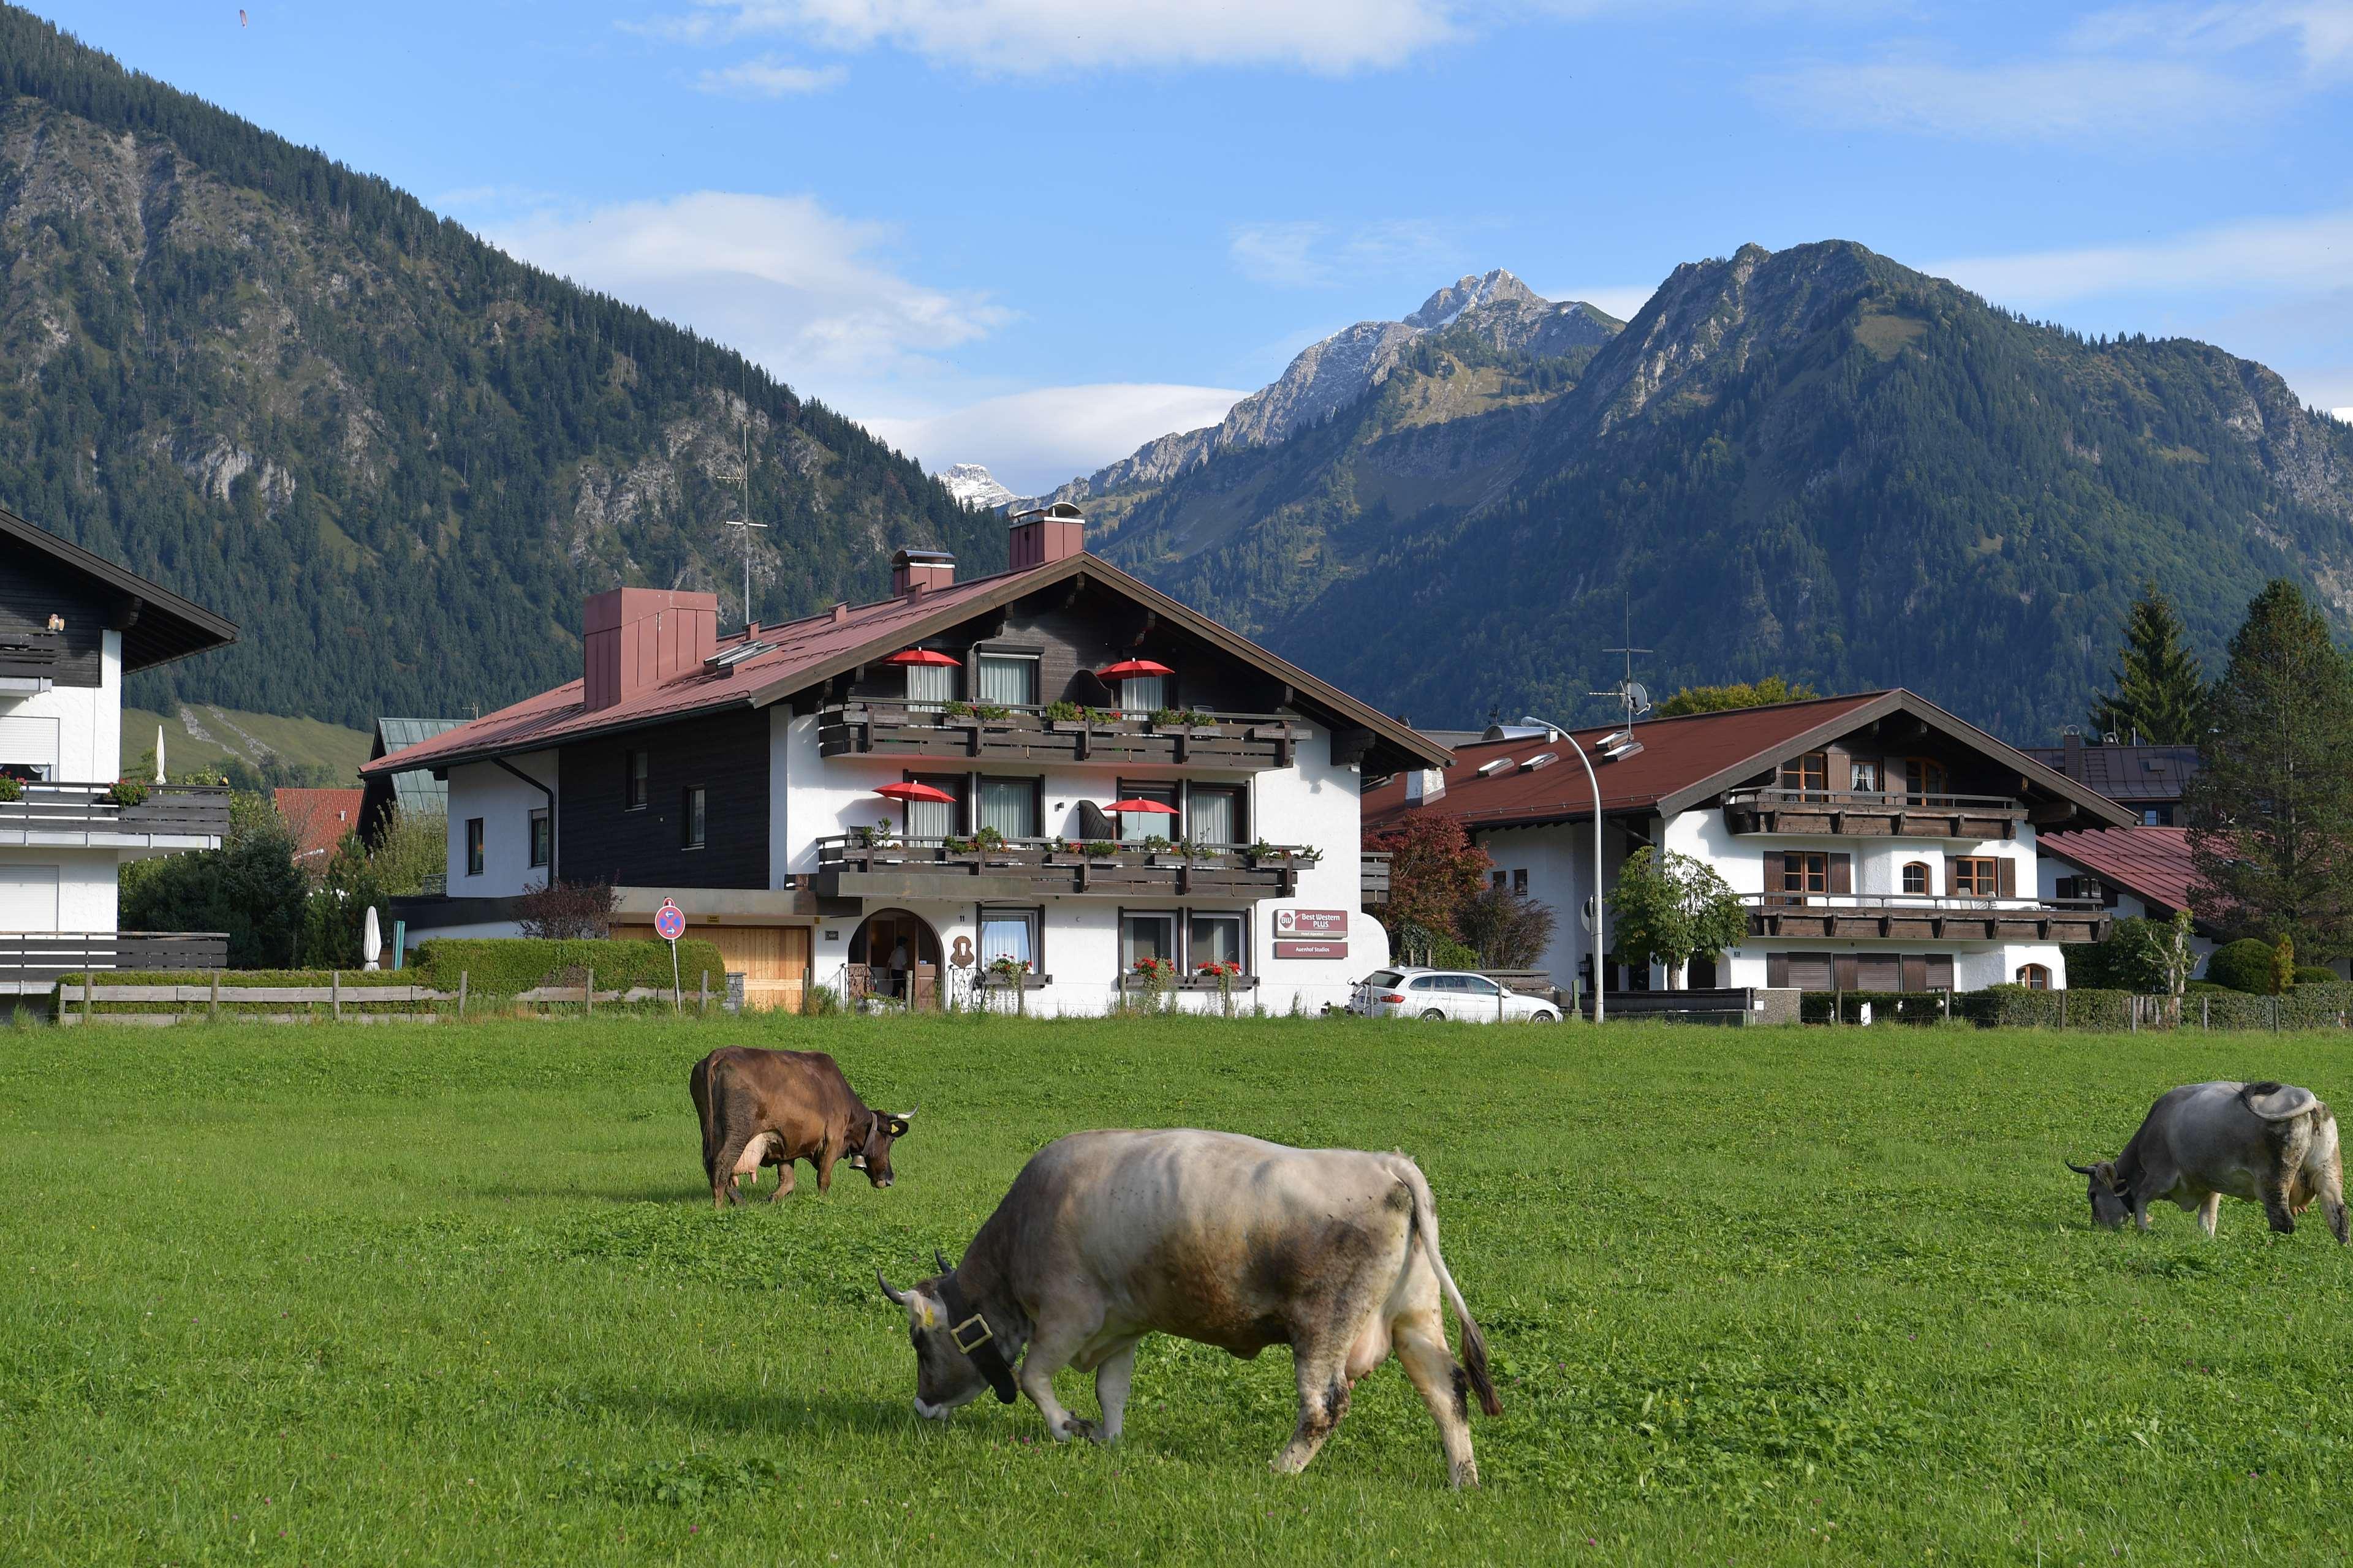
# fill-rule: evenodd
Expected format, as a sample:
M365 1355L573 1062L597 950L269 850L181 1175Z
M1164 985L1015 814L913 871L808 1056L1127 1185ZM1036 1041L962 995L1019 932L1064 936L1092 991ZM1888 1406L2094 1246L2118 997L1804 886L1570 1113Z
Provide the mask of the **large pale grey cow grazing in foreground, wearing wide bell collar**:
M1431 1187L1405 1154L1071 1133L1031 1157L955 1267L936 1262L906 1291L875 1274L906 1307L915 1410L929 1420L991 1387L1005 1403L1019 1389L1054 1441L1108 1443L1146 1333L1242 1359L1289 1345L1299 1425L1275 1469L1292 1474L1348 1410L1351 1385L1395 1352L1438 1420L1449 1481L1478 1486L1468 1394L1487 1415L1501 1406L1487 1342L1438 1253ZM1440 1300L1461 1321L1464 1366ZM1094 1373L1101 1425L1054 1399L1054 1373L1071 1363Z

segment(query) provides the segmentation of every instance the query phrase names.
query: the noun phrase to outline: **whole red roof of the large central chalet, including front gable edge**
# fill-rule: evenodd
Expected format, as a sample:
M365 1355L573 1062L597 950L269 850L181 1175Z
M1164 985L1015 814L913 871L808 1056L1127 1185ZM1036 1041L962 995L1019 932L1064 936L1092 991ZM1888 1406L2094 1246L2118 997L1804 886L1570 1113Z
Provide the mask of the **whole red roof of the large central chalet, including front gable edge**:
M925 637L934 637L960 621L995 609L998 604L1009 604L1012 599L1075 574L1085 574L1087 578L1155 609L1162 621L1179 623L1200 637L1224 644L1238 658L1247 658L1275 672L1301 696L1311 696L1313 701L1348 715L1351 722L1369 726L1395 752L1419 759L1440 759L1447 755L1442 748L1431 745L1398 719L1391 719L1388 715L1377 712L1348 693L1315 679L1306 670L1275 658L1266 649L1217 625L1176 599L1169 599L1155 588L1139 583L1118 567L1080 552L1042 567L998 571L967 583L932 588L920 595L878 599L873 604L845 604L800 621L762 625L755 642L774 644L767 654L755 654L736 663L732 670L706 672L696 668L689 675L680 675L659 686L621 698L609 708L584 708L581 682L572 679L553 691L541 691L539 696L522 698L511 708L501 708L499 712L485 712L480 719L459 724L456 729L442 731L431 741L376 757L360 769L360 776L405 773L409 769L438 769L449 766L452 762L478 762L482 757L527 752L574 741L579 736L635 729L640 724L654 724L715 708L753 708L791 691L800 691L802 686L852 665L866 663L882 651L896 651L922 642ZM720 642L720 654L741 644L741 632L736 637L727 637Z

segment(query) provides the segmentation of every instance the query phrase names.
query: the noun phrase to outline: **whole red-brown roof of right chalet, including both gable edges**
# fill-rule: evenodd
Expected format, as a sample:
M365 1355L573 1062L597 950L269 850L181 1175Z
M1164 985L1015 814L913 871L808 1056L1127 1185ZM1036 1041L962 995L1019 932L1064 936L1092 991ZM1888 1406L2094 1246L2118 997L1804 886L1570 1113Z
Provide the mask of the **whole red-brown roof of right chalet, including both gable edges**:
M1927 698L1901 689L1857 691L1809 703L1734 708L1729 712L1694 712L1678 719L1635 724L1633 733L1642 743L1640 752L1624 762L1593 762L1593 778L1602 792L1602 813L1682 811L1772 769L1786 755L1809 750L1892 712L1908 712L1962 745L1974 745L1986 755L2000 757L2021 778L2033 778L2040 795L2073 802L2082 820L2118 825L2132 820L2122 806L2087 785L2045 769L1981 729L1955 719ZM1612 729L1619 726L1609 724L1569 733L1586 748L1586 755L1593 755L1593 743ZM1534 771L1522 766L1541 752L1558 752L1560 759ZM1480 776L1482 766L1504 757L1515 766L1487 778ZM1471 827L1558 823L1593 816L1593 785L1586 783L1586 771L1565 741L1480 741L1454 755L1454 766L1447 769L1445 795L1426 806L1405 804L1402 773L1379 790L1365 792L1365 827L1381 827L1409 811L1440 811Z

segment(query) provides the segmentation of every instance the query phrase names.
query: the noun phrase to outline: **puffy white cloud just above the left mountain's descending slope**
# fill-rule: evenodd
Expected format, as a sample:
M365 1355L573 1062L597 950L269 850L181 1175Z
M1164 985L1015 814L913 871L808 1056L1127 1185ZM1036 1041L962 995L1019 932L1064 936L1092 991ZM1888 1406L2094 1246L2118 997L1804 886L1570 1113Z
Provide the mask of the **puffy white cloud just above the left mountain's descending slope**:
M739 348L795 386L920 369L1012 313L901 277L892 228L807 195L696 190L489 226L511 256Z

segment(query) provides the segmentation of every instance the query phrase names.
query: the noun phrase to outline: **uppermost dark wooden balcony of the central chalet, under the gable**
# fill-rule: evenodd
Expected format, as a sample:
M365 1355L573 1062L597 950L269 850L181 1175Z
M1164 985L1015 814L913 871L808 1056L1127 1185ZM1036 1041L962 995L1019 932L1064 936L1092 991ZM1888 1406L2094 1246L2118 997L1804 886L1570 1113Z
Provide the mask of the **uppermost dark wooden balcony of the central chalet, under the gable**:
M962 712L958 712L962 710ZM1304 731L1275 712L1186 712L1207 724L1155 724L1141 715L1104 712L1066 719L1045 708L972 710L892 703L835 703L819 712L816 750L824 757L936 757L1000 762L1099 762L1106 766L1195 766L1266 771L1292 766Z

